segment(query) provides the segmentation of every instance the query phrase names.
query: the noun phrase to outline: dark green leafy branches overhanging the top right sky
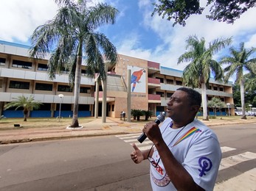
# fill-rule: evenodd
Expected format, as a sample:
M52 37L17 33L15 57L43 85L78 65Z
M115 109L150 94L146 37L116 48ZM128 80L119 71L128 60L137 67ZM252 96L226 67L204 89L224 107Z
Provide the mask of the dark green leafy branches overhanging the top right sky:
M162 18L166 16L168 21L173 19L173 26L185 26L190 15L201 15L205 8L200 6L199 0L159 0L153 3L153 6L152 15L157 13L159 16L162 15ZM233 24L244 12L256 6L256 0L207 0L207 6L210 6L210 15L207 15L207 18Z

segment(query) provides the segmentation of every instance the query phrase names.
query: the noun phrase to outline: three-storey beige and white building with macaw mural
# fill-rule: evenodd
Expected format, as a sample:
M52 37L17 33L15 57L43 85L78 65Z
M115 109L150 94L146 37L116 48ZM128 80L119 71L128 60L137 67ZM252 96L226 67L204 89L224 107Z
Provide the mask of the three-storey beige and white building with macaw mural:
M47 60L29 57L29 46L8 43L0 40L0 115L7 118L23 117L21 110L4 110L4 104L13 101L18 95L41 101L40 109L30 112L30 117L50 118L59 115L72 117L73 90L69 87L68 71L63 68L56 78L50 80L47 74ZM108 64L106 62L106 64ZM131 71L131 82L128 81ZM93 116L95 103L95 79L85 76L86 65L82 68L80 85L79 117ZM142 60L119 54L115 65L108 65L107 79L107 116L120 118L120 112L127 112L128 83L131 83L131 109L151 110L154 115L165 111L170 95L182 87L182 71L160 66L157 62ZM102 109L102 87L99 87L99 113ZM196 89L200 93L200 89ZM58 95L62 94L63 98ZM228 109L234 115L232 83L221 84L210 80L207 98L213 96L229 103L218 112L226 115ZM22 109L22 108L21 108ZM210 110L212 112L212 110Z

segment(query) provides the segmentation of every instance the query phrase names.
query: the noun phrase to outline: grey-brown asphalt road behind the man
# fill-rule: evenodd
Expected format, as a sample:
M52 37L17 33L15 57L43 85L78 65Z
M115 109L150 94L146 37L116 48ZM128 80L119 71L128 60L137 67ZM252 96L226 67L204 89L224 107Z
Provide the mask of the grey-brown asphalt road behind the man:
M256 124L211 128L224 148L226 163L217 179L221 190L226 186L223 181L229 183L256 169ZM136 137L86 137L0 145L0 190L151 190L148 162L135 165L130 159L133 151L130 143ZM249 159L227 167L230 156L239 154ZM250 189L256 190L255 185Z

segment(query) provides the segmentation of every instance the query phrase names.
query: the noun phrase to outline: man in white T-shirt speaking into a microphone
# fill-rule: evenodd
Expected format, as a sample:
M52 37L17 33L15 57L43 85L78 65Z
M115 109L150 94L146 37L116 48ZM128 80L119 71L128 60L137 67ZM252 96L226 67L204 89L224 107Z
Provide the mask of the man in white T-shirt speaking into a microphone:
M160 127L152 121L142 130L152 148L140 151L133 144L131 159L151 162L153 190L213 190L221 148L214 132L195 119L200 107L200 93L177 89L167 102L168 118Z

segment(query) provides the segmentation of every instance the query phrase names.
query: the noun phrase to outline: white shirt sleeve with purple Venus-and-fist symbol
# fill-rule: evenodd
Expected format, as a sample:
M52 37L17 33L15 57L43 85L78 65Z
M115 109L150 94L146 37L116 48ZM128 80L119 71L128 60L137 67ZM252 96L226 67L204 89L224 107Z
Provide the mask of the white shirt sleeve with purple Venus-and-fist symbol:
M221 163L221 148L215 136L200 136L191 146L182 165L204 190L213 190Z

